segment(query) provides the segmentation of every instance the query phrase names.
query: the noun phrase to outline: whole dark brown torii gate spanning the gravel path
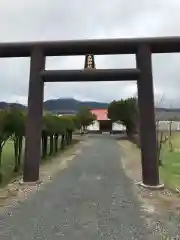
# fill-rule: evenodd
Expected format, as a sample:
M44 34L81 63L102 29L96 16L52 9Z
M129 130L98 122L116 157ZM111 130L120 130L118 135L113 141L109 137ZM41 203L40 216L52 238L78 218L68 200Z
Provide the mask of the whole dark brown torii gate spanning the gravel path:
M180 37L0 43L0 58L30 57L24 176L39 179L44 82L137 80L143 184L159 186L152 53L180 52ZM45 70L46 56L135 54L135 69Z

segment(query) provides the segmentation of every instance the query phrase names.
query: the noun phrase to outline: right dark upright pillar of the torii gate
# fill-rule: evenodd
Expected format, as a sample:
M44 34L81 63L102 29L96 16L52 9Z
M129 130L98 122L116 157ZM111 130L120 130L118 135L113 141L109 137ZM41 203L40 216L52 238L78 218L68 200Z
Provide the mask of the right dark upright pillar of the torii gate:
M156 145L154 91L151 50L148 45L142 45L139 47L136 60L137 67L141 71L137 86L140 117L142 178L145 185L158 186L159 170Z

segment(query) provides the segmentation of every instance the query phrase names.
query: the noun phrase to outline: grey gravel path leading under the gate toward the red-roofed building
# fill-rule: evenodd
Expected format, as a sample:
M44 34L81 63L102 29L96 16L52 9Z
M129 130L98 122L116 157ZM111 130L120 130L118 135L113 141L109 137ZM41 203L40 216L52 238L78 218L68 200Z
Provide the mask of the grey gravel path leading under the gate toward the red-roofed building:
M69 168L0 216L1 240L155 239L108 135L91 136Z

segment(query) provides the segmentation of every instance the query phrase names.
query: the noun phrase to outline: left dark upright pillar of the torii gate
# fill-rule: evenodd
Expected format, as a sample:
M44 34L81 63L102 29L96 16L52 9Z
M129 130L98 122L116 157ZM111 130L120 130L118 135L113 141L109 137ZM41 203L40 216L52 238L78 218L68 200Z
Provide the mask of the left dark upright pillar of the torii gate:
M28 115L26 123L24 182L39 179L41 159L41 131L43 114L44 82L40 72L45 68L45 57L39 48L34 48L30 63Z

